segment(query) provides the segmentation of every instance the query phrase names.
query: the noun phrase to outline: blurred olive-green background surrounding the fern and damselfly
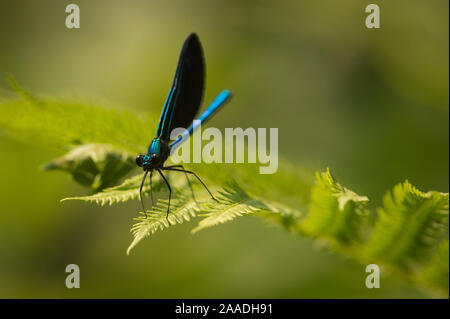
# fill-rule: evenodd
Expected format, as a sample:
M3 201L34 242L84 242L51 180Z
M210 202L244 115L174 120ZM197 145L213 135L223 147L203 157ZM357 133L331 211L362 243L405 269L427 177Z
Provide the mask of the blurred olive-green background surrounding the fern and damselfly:
M65 27L72 2L78 30ZM380 29L364 25L369 3L0 0L0 97L13 97L4 80L13 74L37 94L159 112L195 31L206 101L235 93L214 126L278 127L284 158L311 172L329 166L375 205L405 179L447 192L448 1L376 1ZM85 193L39 169L61 153L4 134L0 149L1 298L430 296L392 276L369 290L362 265L257 218L194 236L183 224L127 257L138 201L61 204ZM65 287L70 263L81 289Z

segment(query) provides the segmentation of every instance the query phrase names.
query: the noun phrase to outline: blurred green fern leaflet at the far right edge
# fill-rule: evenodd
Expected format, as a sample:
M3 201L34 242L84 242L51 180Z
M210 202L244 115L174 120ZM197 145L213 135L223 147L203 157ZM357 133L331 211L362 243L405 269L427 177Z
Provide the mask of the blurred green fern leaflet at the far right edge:
M448 229L448 194L423 193L406 181L383 204L365 254L403 266L429 257Z

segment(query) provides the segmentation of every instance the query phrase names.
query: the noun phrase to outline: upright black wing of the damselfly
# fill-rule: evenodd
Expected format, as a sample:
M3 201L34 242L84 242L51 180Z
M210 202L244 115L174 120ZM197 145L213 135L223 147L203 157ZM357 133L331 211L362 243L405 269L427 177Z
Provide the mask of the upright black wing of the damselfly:
M159 119L157 137L169 140L174 128L187 128L192 124L202 102L204 82L203 50L197 35L192 33L181 49L175 78Z

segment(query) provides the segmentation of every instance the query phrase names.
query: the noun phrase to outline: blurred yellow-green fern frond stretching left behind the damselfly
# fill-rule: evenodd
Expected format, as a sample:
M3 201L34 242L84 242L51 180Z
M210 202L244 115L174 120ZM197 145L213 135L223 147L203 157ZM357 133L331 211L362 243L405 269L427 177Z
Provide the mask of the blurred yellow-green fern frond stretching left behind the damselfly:
M36 98L0 101L0 127L12 137L45 148L109 144L136 154L145 150L154 121L93 103Z

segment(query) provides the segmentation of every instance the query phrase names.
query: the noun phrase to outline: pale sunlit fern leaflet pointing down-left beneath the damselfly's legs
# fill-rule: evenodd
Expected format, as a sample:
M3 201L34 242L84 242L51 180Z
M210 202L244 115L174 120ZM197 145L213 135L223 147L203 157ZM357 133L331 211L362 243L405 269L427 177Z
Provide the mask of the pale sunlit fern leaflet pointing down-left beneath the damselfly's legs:
M140 241L153 235L158 229L164 230L170 225L182 224L183 221L190 221L196 216L200 208L193 199L189 199L190 194L188 196L179 190L176 194L177 196L170 202L168 218L166 218L167 200L159 200L156 206L147 212L147 217L141 213L142 216L135 218L138 223L131 228L134 240L127 249L127 255Z

